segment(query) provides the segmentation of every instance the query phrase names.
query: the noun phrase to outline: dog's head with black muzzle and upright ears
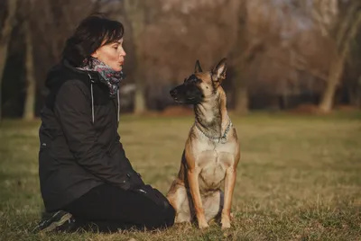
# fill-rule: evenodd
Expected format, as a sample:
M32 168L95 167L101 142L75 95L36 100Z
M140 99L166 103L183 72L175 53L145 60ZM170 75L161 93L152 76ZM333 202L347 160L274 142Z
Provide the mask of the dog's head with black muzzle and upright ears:
M203 72L199 61L196 62L194 74L184 80L182 85L171 89L171 97L177 103L202 103L218 93L220 85L226 78L226 58L222 58L211 71Z

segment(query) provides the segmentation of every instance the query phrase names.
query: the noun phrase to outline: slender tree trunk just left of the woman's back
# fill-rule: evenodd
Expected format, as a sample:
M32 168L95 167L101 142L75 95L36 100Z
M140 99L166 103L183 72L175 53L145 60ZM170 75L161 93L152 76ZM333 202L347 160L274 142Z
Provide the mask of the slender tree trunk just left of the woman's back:
M31 121L35 116L36 81L34 77L33 51L32 51L32 30L29 22L23 22L25 32L25 68L26 68L26 97L23 107L23 120Z

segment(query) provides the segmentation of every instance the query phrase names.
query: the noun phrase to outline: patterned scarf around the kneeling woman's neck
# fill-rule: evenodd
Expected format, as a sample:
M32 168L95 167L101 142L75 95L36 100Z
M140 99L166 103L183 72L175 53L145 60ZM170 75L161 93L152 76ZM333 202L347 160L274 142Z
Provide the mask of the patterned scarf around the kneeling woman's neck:
M123 71L115 71L97 58L89 58L84 62L80 70L96 71L100 74L100 81L109 87L110 97L114 98L119 89L119 83L123 79Z

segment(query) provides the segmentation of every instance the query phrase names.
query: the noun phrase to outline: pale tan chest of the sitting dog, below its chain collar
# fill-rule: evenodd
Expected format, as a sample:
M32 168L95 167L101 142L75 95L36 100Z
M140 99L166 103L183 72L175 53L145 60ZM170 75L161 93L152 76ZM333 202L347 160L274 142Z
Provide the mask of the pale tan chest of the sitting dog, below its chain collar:
M229 144L218 144L216 147L203 147L197 155L199 166L199 189L214 190L220 187L226 176L227 168L234 163L234 154L229 151Z

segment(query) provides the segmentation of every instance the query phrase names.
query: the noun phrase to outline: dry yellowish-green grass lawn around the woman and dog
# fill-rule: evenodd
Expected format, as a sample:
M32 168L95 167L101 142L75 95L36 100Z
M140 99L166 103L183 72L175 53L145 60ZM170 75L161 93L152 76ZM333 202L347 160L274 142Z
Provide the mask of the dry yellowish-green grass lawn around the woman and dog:
M338 114L233 116L241 140L232 228L104 234L32 234L40 219L40 121L0 127L0 240L361 240L361 118ZM119 133L134 168L165 193L193 119L123 116Z

